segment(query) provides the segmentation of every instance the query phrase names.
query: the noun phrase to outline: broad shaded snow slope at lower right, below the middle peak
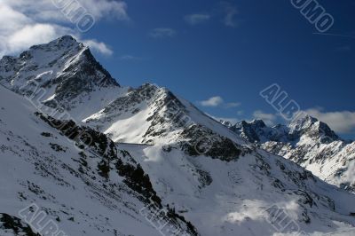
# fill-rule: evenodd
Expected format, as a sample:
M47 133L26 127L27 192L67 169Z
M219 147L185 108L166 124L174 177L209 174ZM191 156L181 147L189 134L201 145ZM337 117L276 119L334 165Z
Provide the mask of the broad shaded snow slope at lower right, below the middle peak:
M173 204L201 235L355 233L353 195L282 157L251 148L221 161L166 146L121 146L149 173L162 201Z

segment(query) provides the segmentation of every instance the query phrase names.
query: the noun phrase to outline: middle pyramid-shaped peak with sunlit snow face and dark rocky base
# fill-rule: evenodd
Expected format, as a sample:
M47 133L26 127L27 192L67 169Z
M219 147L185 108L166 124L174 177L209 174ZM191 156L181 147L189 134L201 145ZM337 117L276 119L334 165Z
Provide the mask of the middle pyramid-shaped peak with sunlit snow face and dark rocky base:
M128 90L83 122L118 143L165 145L224 160L238 158L244 143L191 103L149 83Z

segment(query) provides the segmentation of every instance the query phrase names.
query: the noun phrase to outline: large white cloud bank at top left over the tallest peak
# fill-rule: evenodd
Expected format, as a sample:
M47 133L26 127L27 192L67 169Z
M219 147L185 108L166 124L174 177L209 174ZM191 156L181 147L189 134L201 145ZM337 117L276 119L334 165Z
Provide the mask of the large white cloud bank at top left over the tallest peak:
M58 1L60 2L60 1ZM61 1L74 3L75 1ZM54 2L55 3L55 2ZM129 20L127 5L122 1L77 0L85 11L96 21L114 16L116 20ZM0 57L5 54L17 54L39 43L48 43L61 35L73 35L81 38L71 22L52 1L48 0L2 0L0 3ZM105 43L89 39L94 51L106 55L112 51Z

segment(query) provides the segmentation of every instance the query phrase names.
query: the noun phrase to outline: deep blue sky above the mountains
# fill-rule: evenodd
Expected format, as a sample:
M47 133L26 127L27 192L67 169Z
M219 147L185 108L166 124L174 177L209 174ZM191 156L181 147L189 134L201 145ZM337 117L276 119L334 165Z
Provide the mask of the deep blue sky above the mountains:
M156 83L215 117L272 123L284 121L259 92L278 83L302 110L355 138L355 1L318 1L335 20L327 35L315 34L284 0L126 0L111 9L104 2L111 1L83 2L96 17L83 34L71 22L41 21L8 4L92 39L95 55L122 85Z

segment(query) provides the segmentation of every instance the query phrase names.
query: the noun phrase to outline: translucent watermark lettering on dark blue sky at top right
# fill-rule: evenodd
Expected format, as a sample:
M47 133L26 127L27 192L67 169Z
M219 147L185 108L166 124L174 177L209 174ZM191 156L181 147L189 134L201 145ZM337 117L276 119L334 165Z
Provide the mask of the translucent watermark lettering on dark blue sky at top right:
M317 0L291 0L291 4L304 15L320 33L333 27L334 18Z

